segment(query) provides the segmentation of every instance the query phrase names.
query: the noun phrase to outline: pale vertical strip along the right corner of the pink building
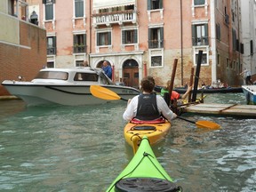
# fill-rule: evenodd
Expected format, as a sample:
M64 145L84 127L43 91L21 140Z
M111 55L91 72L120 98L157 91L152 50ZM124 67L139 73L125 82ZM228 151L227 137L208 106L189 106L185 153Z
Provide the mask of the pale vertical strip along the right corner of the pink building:
M215 4L211 0L211 43L212 43L212 84L217 81L217 56L216 56L216 24L215 24Z

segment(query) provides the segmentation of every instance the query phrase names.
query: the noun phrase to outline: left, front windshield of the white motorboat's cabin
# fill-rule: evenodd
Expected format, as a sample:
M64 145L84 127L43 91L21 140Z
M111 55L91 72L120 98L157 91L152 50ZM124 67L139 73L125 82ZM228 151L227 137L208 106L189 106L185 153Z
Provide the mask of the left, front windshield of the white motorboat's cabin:
M58 79L58 80L67 80L68 73L61 71L40 71L35 79Z

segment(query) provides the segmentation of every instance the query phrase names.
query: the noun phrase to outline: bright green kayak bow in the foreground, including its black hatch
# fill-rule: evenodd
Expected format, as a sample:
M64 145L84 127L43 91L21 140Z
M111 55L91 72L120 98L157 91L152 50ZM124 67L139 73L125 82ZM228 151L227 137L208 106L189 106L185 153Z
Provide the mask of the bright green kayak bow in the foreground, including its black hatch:
M150 144L150 140L144 136L131 162L117 176L107 192L182 191L157 161Z

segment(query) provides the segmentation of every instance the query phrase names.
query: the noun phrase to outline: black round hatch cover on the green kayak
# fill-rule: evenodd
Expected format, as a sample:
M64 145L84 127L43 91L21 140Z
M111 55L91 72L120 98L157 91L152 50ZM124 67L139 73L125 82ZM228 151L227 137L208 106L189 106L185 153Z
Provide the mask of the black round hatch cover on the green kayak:
M115 185L116 192L132 192L132 191L162 191L162 192L176 192L180 191L170 180L163 180L159 178L125 178L119 180Z

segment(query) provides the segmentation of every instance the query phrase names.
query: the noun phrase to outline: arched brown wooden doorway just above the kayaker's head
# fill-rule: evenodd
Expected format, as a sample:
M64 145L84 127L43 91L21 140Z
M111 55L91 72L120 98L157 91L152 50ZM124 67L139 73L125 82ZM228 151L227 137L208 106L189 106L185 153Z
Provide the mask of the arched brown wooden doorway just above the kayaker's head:
M124 61L123 82L126 86L139 88L139 64L136 60Z

